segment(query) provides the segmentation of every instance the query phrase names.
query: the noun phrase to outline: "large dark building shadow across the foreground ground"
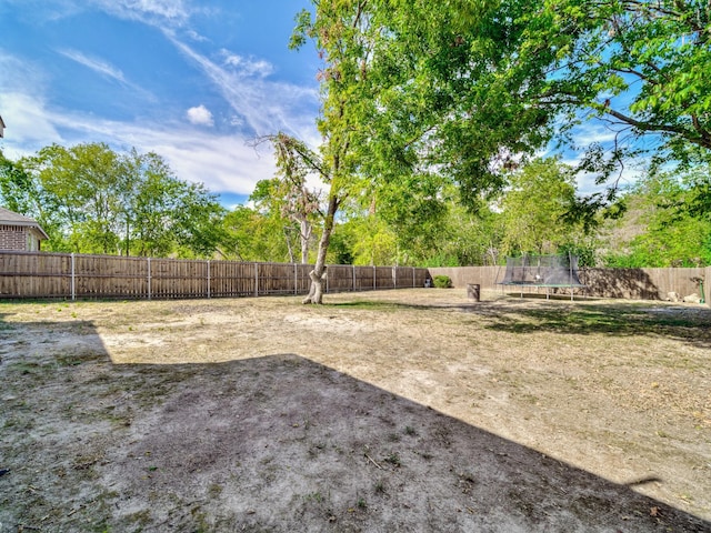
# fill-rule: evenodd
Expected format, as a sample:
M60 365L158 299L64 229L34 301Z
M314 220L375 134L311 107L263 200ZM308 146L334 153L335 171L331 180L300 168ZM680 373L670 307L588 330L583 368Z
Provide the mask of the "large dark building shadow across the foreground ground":
M297 354L113 364L90 322L11 333L56 342L2 348L0 531L711 531L631 489L664 480L613 483Z

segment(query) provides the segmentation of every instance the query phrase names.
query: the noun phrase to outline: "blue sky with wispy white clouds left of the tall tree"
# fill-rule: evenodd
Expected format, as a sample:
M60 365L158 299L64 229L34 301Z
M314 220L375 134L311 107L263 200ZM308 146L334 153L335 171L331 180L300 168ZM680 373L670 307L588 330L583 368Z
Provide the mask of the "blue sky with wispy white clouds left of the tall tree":
M226 205L273 175L287 131L318 143L313 48L289 50L307 0L0 0L0 148L17 159L107 142L162 155Z

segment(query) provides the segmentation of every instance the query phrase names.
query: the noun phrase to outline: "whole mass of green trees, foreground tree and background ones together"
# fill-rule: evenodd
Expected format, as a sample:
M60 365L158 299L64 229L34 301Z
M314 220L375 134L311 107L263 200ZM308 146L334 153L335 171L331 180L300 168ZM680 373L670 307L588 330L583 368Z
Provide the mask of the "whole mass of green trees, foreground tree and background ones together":
M573 250L611 265L707 264L710 38L703 0L319 0L298 13L290 47L311 42L321 60L321 144L258 140L278 174L251 207L221 211L154 154L118 157L133 169L116 175L118 189L132 184L111 198L79 183L74 198L42 173L76 149L17 167L28 188L41 184L34 198L62 197L57 214L33 207L57 224L57 245L308 255L307 303L321 301L327 262L481 264ZM607 143L578 145L575 128L593 120ZM575 165L538 157L551 147L577 153ZM642 178L624 187L640 160ZM577 191L577 175L598 189ZM120 215L107 218L114 204ZM143 220L162 222L156 238Z

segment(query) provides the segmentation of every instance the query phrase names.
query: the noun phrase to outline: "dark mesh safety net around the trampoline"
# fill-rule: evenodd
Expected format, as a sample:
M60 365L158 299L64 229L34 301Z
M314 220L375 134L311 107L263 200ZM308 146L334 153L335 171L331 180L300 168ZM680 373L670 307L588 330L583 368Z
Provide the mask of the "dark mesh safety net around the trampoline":
M578 278L577 255L507 258L502 285L585 286Z

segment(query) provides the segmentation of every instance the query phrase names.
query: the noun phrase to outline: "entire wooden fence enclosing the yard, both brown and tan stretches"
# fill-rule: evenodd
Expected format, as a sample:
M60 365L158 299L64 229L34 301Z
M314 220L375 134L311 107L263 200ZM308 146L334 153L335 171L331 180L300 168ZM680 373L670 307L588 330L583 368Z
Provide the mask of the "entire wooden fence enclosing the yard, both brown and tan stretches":
M178 299L306 294L310 264L247 263L177 259L126 258L48 252L0 251L0 299ZM477 283L483 290L498 285L504 266L420 269L412 266L329 265L328 291L370 291L424 286L427 278L449 275L455 288ZM699 269L581 269L583 292L591 296L663 300L669 292L681 298L699 294L704 282L711 304L711 266ZM523 292L535 291L524 288ZM517 292L521 289L517 288Z

